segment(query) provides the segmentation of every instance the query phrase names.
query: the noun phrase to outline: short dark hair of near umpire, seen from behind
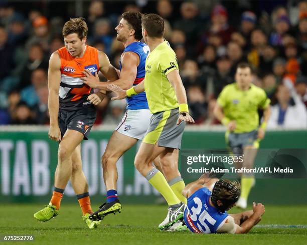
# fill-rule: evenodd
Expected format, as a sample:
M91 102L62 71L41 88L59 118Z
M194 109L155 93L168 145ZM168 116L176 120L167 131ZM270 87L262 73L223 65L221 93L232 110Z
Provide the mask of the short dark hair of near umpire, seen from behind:
M159 14L148 13L142 16L143 28L150 37L163 37L164 35L164 19Z

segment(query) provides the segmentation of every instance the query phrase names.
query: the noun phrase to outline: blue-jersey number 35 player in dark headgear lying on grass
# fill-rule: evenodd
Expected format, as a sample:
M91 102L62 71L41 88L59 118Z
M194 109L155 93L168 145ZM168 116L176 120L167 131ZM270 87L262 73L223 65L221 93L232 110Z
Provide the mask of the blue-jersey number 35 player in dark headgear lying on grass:
M227 213L240 196L238 181L200 178L189 183L183 194L188 198L184 220L169 230L188 228L196 233L247 233L261 220L265 211L264 205L254 202L252 210Z

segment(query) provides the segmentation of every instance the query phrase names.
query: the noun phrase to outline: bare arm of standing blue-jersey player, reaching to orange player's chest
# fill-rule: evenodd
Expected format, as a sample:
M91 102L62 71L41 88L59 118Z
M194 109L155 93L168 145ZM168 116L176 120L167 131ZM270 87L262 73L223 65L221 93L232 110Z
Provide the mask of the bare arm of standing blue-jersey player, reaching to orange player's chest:
M115 84L120 86L122 89L128 89L132 86L137 72L137 66L139 64L139 57L134 52L124 52L121 55L121 70L119 73L119 79L114 81L107 81L107 82L100 82L99 77L97 74L93 76L90 72L87 72L85 70L83 73L85 74L85 77L82 77L84 83L89 85L93 88L99 88L103 90L107 90L107 86L109 84ZM116 70L116 69L115 69ZM117 70L116 70L116 73Z

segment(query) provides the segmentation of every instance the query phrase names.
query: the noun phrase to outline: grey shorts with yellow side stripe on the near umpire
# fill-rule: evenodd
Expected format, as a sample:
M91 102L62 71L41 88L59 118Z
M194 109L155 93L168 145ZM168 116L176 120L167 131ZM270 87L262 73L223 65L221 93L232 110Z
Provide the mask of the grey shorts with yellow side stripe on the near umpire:
M177 125L179 108L152 114L149 127L142 140L144 143L180 149L185 121Z

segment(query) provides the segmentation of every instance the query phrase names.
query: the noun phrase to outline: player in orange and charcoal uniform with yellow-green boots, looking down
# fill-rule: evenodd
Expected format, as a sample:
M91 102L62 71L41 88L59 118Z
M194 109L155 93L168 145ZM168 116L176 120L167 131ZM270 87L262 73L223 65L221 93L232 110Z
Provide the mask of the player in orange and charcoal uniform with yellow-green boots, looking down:
M87 25L83 18L72 18L63 27L65 46L55 51L49 61L48 108L50 113L49 137L59 142L58 165L54 191L49 205L34 214L40 221L48 221L59 213L64 189L70 179L89 228L98 221L89 219L93 212L88 184L82 171L80 143L87 139L96 120L96 109L102 97L83 84L84 69L100 70L108 79L118 78L115 68L104 52L86 45ZM102 96L102 94L100 94Z

